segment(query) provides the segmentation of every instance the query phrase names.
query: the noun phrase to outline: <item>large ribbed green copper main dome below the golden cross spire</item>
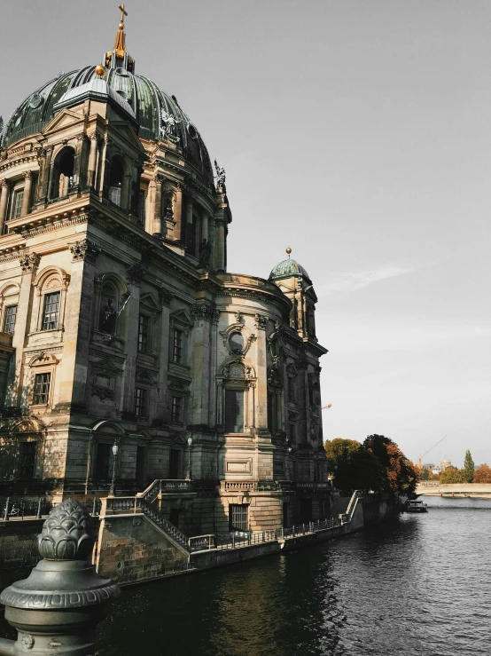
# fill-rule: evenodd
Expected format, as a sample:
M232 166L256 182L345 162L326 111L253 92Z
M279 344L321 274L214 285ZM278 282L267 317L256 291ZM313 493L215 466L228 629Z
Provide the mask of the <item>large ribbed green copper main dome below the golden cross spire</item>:
M0 146L10 146L21 138L41 132L56 113L55 106L65 94L97 77L95 67L60 73L32 93L17 107L0 134ZM213 182L213 170L203 139L175 99L144 75L134 75L127 67L106 70L105 82L132 108L139 124L140 138L169 138L183 148L185 157Z

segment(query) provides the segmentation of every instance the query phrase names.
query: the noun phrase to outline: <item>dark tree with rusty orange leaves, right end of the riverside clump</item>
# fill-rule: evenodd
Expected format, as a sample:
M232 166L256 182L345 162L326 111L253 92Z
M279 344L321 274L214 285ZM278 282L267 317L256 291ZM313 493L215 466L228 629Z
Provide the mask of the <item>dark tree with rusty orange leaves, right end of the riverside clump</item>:
M363 448L375 455L386 470L386 490L395 494L414 494L417 468L392 439L385 435L369 435L363 442Z

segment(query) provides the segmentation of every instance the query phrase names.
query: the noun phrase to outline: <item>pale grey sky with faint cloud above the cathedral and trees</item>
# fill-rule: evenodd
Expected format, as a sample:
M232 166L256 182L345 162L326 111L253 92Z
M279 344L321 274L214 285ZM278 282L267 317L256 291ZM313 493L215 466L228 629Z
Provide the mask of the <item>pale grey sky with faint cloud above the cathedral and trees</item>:
M113 47L117 2L0 0L0 114ZM489 0L133 0L136 73L227 171L229 270L319 302L324 437L491 465Z

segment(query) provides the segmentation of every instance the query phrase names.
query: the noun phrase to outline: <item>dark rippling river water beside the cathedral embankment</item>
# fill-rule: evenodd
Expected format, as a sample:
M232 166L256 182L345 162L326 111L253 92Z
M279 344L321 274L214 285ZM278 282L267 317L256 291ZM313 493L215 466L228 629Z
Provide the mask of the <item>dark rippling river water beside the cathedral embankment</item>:
M425 501L320 546L125 589L97 653L488 656L491 501Z

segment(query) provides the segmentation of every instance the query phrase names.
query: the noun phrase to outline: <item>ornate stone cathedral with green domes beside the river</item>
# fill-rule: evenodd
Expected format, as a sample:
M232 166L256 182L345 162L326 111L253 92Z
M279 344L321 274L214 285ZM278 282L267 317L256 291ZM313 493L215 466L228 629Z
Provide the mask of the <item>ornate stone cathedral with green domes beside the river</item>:
M225 171L125 44L0 132L2 494L160 481L188 534L325 517L316 293L229 273ZM113 455L113 446L118 448Z

